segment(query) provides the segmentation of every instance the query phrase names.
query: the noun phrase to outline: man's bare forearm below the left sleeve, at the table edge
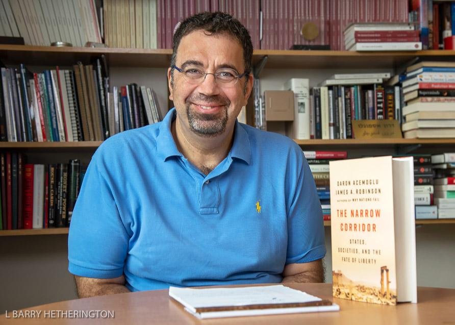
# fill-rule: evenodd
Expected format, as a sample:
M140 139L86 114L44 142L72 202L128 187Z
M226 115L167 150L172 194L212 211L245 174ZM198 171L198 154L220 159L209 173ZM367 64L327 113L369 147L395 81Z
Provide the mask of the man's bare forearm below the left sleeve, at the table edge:
M95 279L74 276L78 296L80 298L94 297L98 295L130 292L125 287L125 277L121 276L114 279Z

